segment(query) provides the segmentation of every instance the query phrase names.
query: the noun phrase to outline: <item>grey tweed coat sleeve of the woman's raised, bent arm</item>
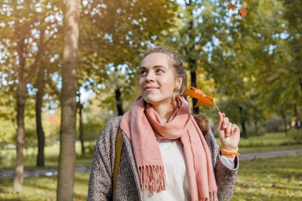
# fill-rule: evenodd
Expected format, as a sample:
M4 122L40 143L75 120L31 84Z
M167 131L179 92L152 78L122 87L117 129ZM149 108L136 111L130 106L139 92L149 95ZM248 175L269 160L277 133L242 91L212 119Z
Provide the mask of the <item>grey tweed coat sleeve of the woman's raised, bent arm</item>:
M211 129L209 129L209 133L205 136L205 140L211 150L218 201L229 201L232 198L235 189L239 158L236 156L235 168L230 169L230 167L225 165L220 158L220 148Z

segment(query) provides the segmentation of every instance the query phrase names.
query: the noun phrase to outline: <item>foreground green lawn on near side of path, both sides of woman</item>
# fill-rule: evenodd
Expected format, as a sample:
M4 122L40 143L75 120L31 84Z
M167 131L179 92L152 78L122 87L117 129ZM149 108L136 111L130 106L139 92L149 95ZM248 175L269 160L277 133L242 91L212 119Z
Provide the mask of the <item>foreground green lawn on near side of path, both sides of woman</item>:
M242 160L232 201L302 200L302 155ZM75 174L74 200L87 200L89 173ZM0 180L0 200L55 200L56 176L24 178L24 192L12 193L13 178Z

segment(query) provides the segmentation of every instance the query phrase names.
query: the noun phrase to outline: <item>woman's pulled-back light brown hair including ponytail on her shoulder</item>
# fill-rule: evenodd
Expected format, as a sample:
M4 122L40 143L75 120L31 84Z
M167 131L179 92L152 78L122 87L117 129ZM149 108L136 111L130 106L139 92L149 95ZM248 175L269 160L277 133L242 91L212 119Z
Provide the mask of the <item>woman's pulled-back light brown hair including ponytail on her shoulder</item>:
M169 62L173 67L173 73L175 78L182 77L182 83L180 88L178 89L178 94L180 96L183 96L185 99L187 99L187 96L183 94L186 91L187 73L183 66L183 62L181 61L179 56L174 51L166 47L158 46L158 47L148 48L145 51L142 59L144 59L147 55L152 53L163 53L169 56ZM193 117L196 123L198 124L203 135L206 135L209 132L209 120L204 115L193 114Z

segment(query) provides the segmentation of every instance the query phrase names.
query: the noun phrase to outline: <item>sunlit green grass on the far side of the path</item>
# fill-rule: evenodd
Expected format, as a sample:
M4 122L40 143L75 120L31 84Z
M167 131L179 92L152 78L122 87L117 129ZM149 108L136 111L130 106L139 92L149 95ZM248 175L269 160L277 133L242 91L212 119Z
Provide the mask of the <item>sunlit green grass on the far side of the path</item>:
M216 138L218 144L220 141ZM95 142L87 142L86 146L92 151L85 157L80 157L81 144L77 142L75 144L75 150L77 152L77 160L75 166L90 166L93 159L93 149ZM254 153L254 152L265 152L275 150L289 150L289 149L301 149L302 144L296 144L293 139L286 136L285 133L267 133L263 136L252 136L248 139L241 138L239 143L240 153ZM45 166L50 168L56 168L58 166L59 156L59 145L55 144L52 146L46 146L45 152ZM36 164L37 148L28 148L24 150L24 169L34 170L39 169L35 167ZM2 170L13 170L16 164L16 150L5 149L0 150L0 169ZM2 159L2 160L1 160ZM45 168L45 167L40 167Z

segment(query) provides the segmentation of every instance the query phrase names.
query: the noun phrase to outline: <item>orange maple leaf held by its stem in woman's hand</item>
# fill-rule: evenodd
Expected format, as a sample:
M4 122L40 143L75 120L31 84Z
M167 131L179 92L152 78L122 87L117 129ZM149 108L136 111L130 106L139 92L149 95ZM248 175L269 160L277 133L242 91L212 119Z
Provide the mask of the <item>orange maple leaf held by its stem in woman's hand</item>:
M197 98L197 103L194 108L196 108L198 106L207 106L207 105L210 105L210 107L212 107L213 104L217 108L215 101L217 99L219 99L220 97L213 98L213 97L205 95L199 88L196 88L194 86L188 86L188 87L190 87L192 89L186 90L184 92L184 95L188 95L190 97ZM217 110L219 111L218 108L217 108Z

